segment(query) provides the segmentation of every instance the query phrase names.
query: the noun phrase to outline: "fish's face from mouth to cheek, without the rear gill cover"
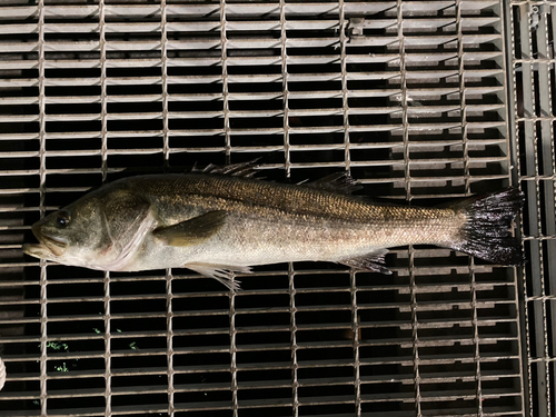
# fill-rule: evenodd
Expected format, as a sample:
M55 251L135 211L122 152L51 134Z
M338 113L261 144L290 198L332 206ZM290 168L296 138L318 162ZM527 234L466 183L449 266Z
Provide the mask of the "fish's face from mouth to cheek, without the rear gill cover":
M39 244L23 245L36 258L63 265L93 267L113 246L95 198L83 198L46 216L31 230Z

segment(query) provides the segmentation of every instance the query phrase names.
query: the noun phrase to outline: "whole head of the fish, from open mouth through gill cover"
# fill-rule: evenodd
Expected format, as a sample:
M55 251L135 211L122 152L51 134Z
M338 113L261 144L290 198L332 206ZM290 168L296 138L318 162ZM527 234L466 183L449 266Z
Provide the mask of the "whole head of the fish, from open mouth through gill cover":
M32 226L39 244L23 251L58 264L120 270L155 225L150 203L116 181L54 211Z

